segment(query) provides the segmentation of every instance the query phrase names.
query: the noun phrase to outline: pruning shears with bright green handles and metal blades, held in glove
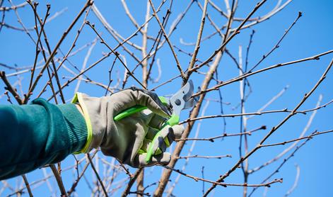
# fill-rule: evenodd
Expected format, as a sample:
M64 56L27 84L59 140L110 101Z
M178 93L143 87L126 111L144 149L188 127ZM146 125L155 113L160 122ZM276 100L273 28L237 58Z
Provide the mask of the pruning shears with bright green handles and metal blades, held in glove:
M186 108L192 108L194 106L194 104L196 103L196 99L192 98L193 93L194 93L193 82L192 80L189 80L187 81L187 84L185 84L185 86L182 86L182 88L179 91L177 91L173 96L171 96L169 101L163 96L158 97L164 105L169 105L171 108L173 108L173 114L168 120L165 121L165 123L163 123L162 127L155 135L155 137L153 137L153 140L149 144L147 150L146 162L151 161L151 157L153 157L153 154L161 153L160 150L153 152L154 144L158 142L160 131L163 130L163 128L165 128L165 126L167 125L170 126L177 125L180 121L180 111ZM119 113L117 116L115 116L114 120L115 121L121 120L122 118L131 116L133 113L143 111L146 108L147 108L146 106L133 106L132 108L128 108L127 110ZM169 146L169 142L167 142L167 145Z

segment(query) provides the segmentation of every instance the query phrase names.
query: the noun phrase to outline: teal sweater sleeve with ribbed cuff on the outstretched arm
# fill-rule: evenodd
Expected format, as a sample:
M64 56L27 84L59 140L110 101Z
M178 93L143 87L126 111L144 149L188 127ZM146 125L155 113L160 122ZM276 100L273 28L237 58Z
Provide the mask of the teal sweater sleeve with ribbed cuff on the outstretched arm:
M74 104L35 99L0 106L0 180L62 161L86 143L86 122Z

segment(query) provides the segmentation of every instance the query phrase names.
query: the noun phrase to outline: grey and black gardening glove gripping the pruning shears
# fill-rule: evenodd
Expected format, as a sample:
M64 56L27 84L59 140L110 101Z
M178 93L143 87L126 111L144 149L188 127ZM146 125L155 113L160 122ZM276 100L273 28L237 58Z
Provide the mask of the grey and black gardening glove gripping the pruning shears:
M171 144L175 138L180 138L184 131L181 125L163 128L158 143L154 146L154 152L159 148L162 153L153 155L151 161L146 162L149 142L171 114L156 94L136 88L100 98L77 93L74 102L80 104L88 127L88 140L82 152L100 147L103 154L116 157L120 162L132 167L168 164L171 156L165 152L168 146L165 141ZM147 106L148 109L119 121L113 119L117 114L136 105Z

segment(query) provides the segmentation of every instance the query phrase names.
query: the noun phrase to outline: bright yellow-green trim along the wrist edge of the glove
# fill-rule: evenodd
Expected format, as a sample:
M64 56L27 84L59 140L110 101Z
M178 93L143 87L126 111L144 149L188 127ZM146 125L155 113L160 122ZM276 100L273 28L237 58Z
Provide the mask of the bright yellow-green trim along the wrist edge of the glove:
M78 152L74 152L74 154L80 154L80 153L88 152L88 148L90 147L91 140L93 140L93 127L91 126L89 113L88 113L88 110L87 110L87 107L86 107L85 103L81 102L81 101L82 101L82 95L81 95L81 93L77 92L74 95L74 98L71 100L71 103L77 103L77 102L80 103L80 106L81 106L82 111L83 111L83 117L86 120L86 125L87 125L87 130L88 130L88 137L87 137L86 144L83 146L82 150L80 150Z

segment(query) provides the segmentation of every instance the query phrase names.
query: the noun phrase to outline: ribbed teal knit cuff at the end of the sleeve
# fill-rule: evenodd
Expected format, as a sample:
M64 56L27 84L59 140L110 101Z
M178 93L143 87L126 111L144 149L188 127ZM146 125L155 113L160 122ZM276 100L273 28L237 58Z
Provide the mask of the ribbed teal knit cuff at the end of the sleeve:
M69 141L71 142L71 153L80 152L86 144L88 136L86 120L73 103L61 104L57 107L64 115Z

